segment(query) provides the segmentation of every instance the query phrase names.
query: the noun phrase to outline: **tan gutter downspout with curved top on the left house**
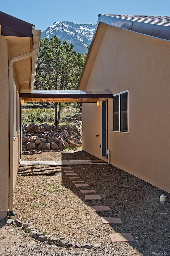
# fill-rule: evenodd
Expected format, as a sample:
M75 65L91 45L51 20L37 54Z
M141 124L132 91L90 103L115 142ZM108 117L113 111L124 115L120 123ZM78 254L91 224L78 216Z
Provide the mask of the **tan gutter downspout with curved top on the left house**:
M22 59L30 58L37 51L38 43L34 43L34 48L30 53L25 53L16 56L9 61L9 197L8 197L8 207L10 217L16 216L13 213L13 178L14 178L14 168L13 168L13 158L14 158L14 88L13 88L13 64L15 61L20 61ZM15 218L15 217L13 217Z

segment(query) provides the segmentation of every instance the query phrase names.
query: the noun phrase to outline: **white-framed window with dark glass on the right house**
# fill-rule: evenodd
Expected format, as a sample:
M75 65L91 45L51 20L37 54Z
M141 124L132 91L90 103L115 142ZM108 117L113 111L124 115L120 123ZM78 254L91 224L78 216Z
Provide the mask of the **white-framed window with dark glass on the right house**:
M113 95L113 131L128 132L128 91Z

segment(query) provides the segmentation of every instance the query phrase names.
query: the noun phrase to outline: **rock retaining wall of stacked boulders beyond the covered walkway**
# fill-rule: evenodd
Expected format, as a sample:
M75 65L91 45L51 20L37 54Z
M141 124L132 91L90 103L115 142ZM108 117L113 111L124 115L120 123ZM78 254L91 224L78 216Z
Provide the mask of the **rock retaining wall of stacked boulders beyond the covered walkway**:
M69 122L70 122L69 118ZM31 123L22 126L22 150L63 150L82 146L82 121L57 127L44 123Z

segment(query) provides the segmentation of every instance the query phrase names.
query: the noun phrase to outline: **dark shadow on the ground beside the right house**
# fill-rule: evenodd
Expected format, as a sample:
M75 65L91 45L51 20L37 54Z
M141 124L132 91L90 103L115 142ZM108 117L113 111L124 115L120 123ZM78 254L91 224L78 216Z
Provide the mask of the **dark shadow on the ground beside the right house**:
M91 155L86 153L86 157L90 159ZM85 155L77 159L85 159ZM93 157L93 159L97 158ZM76 187L64 170L62 170L63 185L90 207L109 206L111 211L97 212L100 217L121 218L122 225L103 224L110 225L111 233L131 233L135 242L131 242L130 245L145 256L152 255L152 252L170 252L168 193L112 165L73 165L71 167L89 187ZM83 194L80 191L82 189L94 189L97 193ZM84 196L90 194L100 195L101 200L85 200ZM166 195L166 203L160 203L161 194ZM121 246L121 243L115 244Z

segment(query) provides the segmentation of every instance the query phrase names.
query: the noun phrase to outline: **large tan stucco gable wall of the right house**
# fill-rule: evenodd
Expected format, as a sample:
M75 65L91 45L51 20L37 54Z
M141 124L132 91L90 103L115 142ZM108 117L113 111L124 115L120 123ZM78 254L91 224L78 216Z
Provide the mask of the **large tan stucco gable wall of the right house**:
M85 88L109 90L113 94L129 90L129 134L113 132L113 102L108 100L111 164L167 192L170 192L169 46L168 41L108 26ZM83 149L102 158L101 150L96 150L101 140L97 145L94 137L91 143L86 142L94 127L101 131L101 122L96 124L93 109L96 107L83 104ZM98 111L101 120L100 107Z

